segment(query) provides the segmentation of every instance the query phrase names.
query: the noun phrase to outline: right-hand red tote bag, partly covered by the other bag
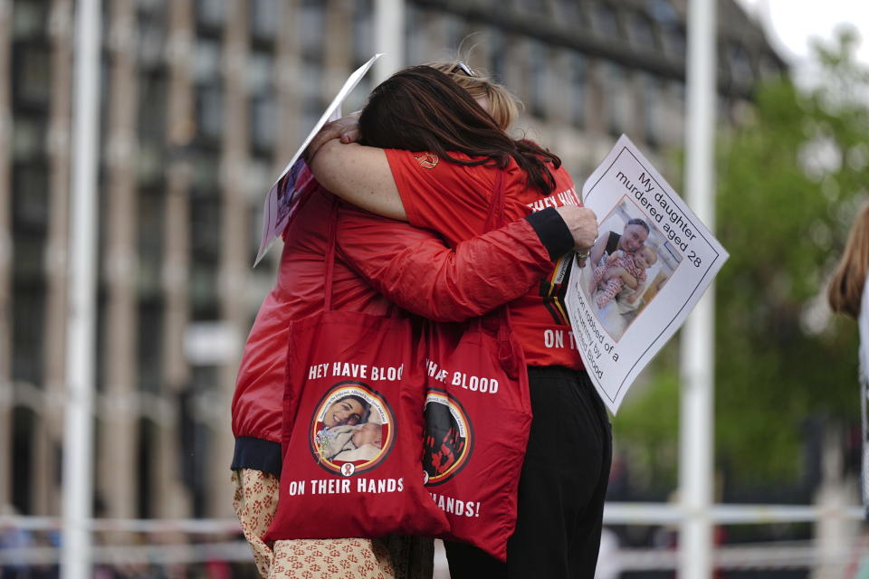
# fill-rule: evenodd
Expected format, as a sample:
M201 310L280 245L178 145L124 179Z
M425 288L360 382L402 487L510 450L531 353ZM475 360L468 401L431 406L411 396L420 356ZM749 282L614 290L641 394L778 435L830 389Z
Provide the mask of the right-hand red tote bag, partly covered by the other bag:
M492 199L489 225L497 225L501 177ZM432 323L427 336L426 487L449 521L444 538L504 561L531 423L525 356L506 308L464 324Z

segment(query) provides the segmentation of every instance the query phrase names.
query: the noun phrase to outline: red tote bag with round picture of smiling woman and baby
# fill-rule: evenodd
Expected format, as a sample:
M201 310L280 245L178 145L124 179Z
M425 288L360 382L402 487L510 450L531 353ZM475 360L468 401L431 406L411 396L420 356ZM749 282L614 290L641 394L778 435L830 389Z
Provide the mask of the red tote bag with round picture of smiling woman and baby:
M290 326L281 494L263 538L441 535L420 460L422 329L331 310L334 221L325 311Z

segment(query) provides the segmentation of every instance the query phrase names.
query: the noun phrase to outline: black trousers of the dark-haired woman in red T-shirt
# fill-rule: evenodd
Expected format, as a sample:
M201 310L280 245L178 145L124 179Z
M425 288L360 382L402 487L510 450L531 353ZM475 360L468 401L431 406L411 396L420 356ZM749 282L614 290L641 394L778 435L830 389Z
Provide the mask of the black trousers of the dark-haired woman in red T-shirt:
M507 563L447 542L452 579L595 576L613 453L609 417L585 372L529 367L528 375L534 419Z

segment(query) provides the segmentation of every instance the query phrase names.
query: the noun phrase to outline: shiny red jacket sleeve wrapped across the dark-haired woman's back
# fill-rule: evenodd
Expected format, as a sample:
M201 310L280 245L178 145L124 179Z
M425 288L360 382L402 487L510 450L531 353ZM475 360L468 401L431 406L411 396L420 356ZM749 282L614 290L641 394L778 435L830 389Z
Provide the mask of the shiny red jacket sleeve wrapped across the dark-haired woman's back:
M435 321L481 316L524 295L552 269L524 219L451 250L435 233L342 206L338 250L387 299Z

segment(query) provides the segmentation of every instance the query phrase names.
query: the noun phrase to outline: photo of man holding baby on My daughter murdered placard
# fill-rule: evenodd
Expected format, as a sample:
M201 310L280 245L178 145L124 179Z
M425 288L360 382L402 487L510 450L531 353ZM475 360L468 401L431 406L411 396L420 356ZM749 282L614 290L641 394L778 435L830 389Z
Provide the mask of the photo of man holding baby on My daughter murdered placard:
M581 288L600 325L618 342L683 256L627 195L597 229L600 237L606 235L606 247L597 263L583 268Z

